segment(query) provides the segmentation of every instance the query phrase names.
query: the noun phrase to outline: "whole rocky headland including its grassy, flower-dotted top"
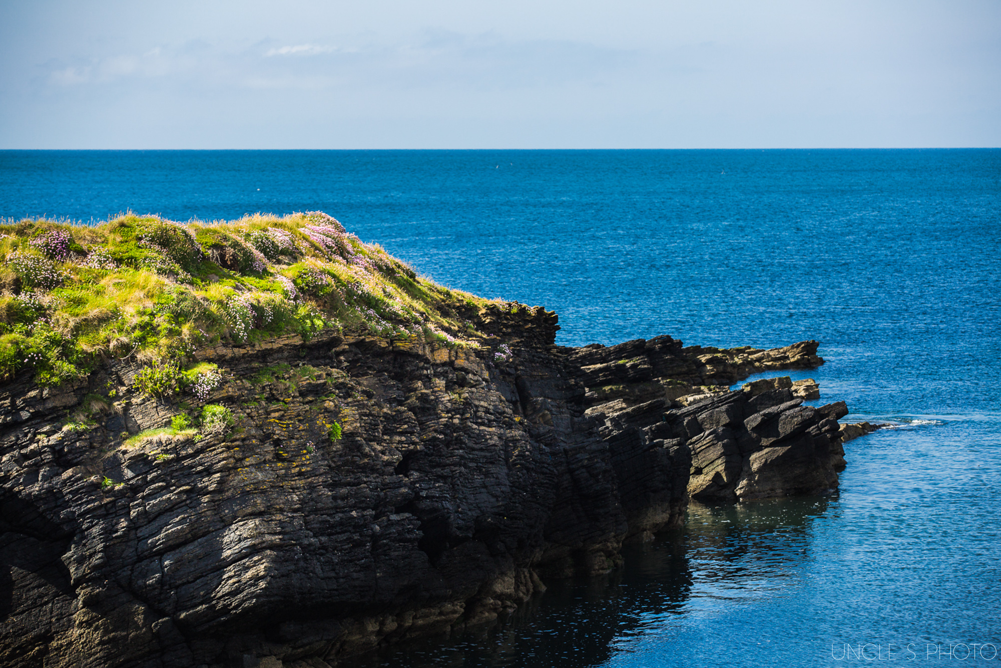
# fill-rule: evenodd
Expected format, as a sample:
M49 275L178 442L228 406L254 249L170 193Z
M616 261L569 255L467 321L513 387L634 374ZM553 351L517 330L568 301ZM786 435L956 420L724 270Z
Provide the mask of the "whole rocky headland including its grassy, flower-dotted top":
M4 345L77 348L0 389L4 665L333 665L615 569L691 499L838 487L844 403L730 390L822 365L817 342L561 347L552 311L283 220L8 229ZM66 305L129 280L132 310Z

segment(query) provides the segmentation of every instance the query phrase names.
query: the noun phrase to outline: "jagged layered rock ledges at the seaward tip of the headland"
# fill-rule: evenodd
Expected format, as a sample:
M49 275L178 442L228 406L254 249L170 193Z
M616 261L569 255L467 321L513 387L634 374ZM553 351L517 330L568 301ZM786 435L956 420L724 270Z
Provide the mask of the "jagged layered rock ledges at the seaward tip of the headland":
M749 383L742 392L727 387L751 373L823 364L816 342L772 351L719 351L682 348L659 337L587 347L574 358L586 383L620 382L589 388L587 395L601 402L587 413L604 420L604 431L616 441L613 451L623 450L618 442L631 434L648 452L675 453L673 471L690 462L683 478L692 498L743 501L837 488L845 467L838 431L838 419L848 414L843 402L802 406L805 398L819 397L817 384L794 384L789 377ZM642 489L635 482L629 487ZM680 521L683 510L684 502L674 507L664 526ZM634 530L660 528L640 527L635 523Z

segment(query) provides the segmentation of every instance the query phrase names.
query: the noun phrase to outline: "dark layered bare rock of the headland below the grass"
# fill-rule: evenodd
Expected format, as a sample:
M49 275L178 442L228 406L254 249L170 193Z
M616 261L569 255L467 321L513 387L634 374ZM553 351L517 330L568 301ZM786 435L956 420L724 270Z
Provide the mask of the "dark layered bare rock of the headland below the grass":
M571 349L541 308L478 317L510 349L330 330L202 349L224 383L186 405L133 393L123 363L4 386L4 665L322 666L608 571L690 498L837 487L844 404L727 391L823 364L815 342ZM120 401L88 409L108 388ZM125 444L208 403L229 433ZM81 410L92 424L63 426Z

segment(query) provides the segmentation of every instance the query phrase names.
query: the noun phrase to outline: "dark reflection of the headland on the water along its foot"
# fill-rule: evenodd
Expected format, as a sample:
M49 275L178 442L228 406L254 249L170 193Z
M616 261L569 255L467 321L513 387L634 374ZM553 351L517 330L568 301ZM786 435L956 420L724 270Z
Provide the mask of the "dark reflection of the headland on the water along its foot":
M794 590L810 555L810 526L837 512L826 498L727 506L693 503L683 529L627 546L624 568L589 580L552 581L504 622L426 639L341 665L595 666L669 641L683 620Z

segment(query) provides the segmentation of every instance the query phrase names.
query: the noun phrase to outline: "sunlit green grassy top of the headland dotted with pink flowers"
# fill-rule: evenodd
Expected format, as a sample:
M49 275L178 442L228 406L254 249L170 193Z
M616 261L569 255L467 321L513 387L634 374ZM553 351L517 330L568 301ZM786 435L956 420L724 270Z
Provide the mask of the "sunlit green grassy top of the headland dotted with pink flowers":
M0 377L41 385L102 359L145 366L141 388L196 384L190 354L326 327L474 345L491 302L417 276L321 212L181 224L127 214L95 227L0 225Z

